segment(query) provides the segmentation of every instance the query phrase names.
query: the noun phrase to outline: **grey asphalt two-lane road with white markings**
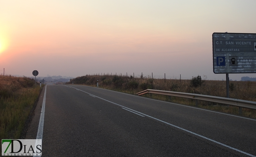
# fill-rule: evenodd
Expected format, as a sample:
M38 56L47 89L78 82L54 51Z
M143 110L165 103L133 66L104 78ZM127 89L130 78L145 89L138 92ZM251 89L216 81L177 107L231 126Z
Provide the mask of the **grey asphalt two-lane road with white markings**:
M41 93L26 139L36 139ZM42 156L256 156L256 120L82 85L47 85Z

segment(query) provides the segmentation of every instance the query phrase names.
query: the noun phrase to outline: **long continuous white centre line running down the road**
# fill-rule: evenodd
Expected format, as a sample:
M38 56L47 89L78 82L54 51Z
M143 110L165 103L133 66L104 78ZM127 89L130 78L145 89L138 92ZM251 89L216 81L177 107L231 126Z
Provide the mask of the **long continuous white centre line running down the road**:
M72 87L72 88L74 88L74 87ZM76 88L74 88L74 89L76 89ZM80 90L80 91L82 91L82 90ZM85 92L85 91L82 91L82 92ZM88 92L85 92L85 93L89 94ZM92 94L91 94L91 95L92 95ZM93 96L95 96L95 95L93 95ZM97 96L95 96L95 97L97 97ZM175 128L181 129L181 130L183 130L183 131L185 131L185 132L191 133L191 134L193 134L193 135L196 135L196 136L202 137L203 139L209 140L209 141L211 141L211 142L214 142L214 143L220 144L220 145L222 145L222 146L224 146L224 147L227 147L227 148L233 149L233 150L235 150L235 151L238 151L238 152L240 152L240 153L242 153L242 154L245 154L245 155L248 155L248 156L251 156L251 157L256 157L256 156L254 156L254 155L252 155L252 154L249 154L249 153L247 153L247 152L244 152L244 151L242 151L242 150L236 149L236 148L234 148L234 147L230 147L229 145L226 145L226 144L223 144L223 143L221 143L221 142L218 142L218 141L215 141L215 140L209 139L208 137L205 137L205 136L199 135L199 134L197 134L197 133L191 132L191 131L189 131L189 130L187 130L187 129L183 129L183 128L181 128L181 127L178 127L178 126L176 126L176 125L170 124L170 123L165 122L165 121L162 121L162 120L160 120L160 119L157 119L157 118L151 117L150 115L147 115L147 114L144 114L144 113L141 113L141 112L135 111L135 110L133 110L133 109L130 109L130 108L128 108L128 107L125 107L125 106L122 106L122 105L116 104L116 103L114 103L114 102L110 102L109 100L103 99L103 98L101 98L101 97L97 97L97 98L102 99L102 100L105 100L105 101L107 101L107 102L109 102L109 103L112 103L112 104L115 104L115 105L121 106L121 107L126 108L126 109L128 109L128 110L132 110L132 111L134 111L134 112L140 113L140 114L145 115L145 116L147 116L147 117L149 117L149 118L152 118L152 119L155 119L155 120L161 121L161 122L163 122L163 123L165 123L165 124L168 124L168 125L173 126L173 127L175 127Z

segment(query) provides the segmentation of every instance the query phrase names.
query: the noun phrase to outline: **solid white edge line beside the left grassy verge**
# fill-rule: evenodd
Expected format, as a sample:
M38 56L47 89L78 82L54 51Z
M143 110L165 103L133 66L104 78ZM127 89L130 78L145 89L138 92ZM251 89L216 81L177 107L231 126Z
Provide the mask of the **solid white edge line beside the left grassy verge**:
M43 139L43 123L44 123L44 120L45 120L46 87L47 87L47 85L45 86L45 94L43 95L43 104L42 104L42 110L41 110L41 115L40 115L40 120L39 120L38 132L37 132L37 135L36 135L36 139Z

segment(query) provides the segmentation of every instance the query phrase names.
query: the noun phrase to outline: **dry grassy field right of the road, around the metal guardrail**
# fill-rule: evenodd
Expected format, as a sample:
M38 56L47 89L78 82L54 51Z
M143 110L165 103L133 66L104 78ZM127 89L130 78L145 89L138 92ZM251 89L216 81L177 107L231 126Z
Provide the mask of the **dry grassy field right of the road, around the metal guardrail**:
M196 78L196 77L194 77ZM156 90L167 90L176 92L186 92L218 97L226 97L226 81L211 81L211 80L200 80L200 82L191 83L191 80L175 80L175 79L145 79L145 78L133 78L121 77L121 76L110 76L110 75L97 75L97 76L81 76L70 80L67 84L84 84L96 87L97 80L99 80L99 87L125 92L128 94L136 94L137 92L146 89L156 89ZM198 80L196 80L198 81ZM229 97L256 101L256 82L251 81L230 81L229 82ZM155 94L146 94L144 97L154 98L164 101L169 101L173 103L186 104L195 106L195 100L178 98L178 97L168 97ZM228 106L223 104L217 104L212 102L198 101L198 107L205 109L216 110L221 112L227 112L231 114L239 114L238 107ZM243 109L243 116L256 118L256 111L250 109Z

